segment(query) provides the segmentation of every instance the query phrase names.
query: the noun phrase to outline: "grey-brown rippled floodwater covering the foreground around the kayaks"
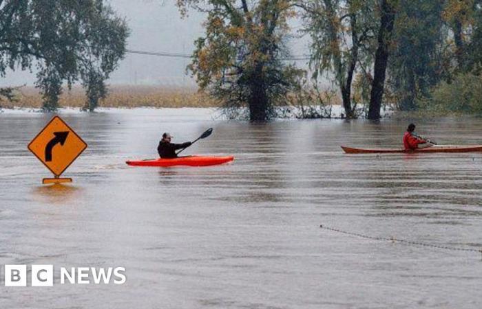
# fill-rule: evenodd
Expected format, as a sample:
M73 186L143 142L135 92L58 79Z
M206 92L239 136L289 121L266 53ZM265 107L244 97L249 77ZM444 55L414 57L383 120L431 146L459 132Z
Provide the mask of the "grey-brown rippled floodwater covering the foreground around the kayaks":
M52 115L0 114L0 264L53 264L50 288L0 279L0 308L481 308L482 154L344 155L400 146L408 121L227 122L203 109L64 113L89 148L51 176L27 145ZM211 137L209 168L132 168L160 134ZM432 119L439 144L482 144L482 119ZM472 249L454 251L370 237ZM127 282L60 284L60 267ZM30 268L30 266L29 266ZM30 279L29 279L30 282Z

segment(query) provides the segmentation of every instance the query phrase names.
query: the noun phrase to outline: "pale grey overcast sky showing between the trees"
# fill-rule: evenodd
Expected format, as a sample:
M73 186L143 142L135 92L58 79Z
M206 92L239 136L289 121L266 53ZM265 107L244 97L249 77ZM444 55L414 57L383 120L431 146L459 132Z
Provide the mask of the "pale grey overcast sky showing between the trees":
M107 0L112 8L125 17L131 35L127 49L149 52L191 54L193 42L202 35L204 16L191 10L181 19L175 0ZM295 25L295 28L299 28ZM291 41L292 53L306 54L306 40ZM127 54L112 73L109 84L161 84L165 86L194 86L186 76L187 58L171 58ZM300 62L303 65L304 62ZM0 85L33 84L34 74L9 72Z

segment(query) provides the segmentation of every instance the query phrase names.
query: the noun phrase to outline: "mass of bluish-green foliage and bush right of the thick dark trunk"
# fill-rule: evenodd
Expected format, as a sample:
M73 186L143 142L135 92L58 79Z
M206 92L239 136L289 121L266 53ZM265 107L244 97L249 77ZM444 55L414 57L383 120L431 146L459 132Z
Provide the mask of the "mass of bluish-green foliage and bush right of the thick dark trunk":
M399 108L480 113L482 1L401 1L389 82Z

